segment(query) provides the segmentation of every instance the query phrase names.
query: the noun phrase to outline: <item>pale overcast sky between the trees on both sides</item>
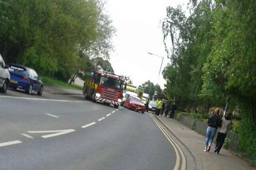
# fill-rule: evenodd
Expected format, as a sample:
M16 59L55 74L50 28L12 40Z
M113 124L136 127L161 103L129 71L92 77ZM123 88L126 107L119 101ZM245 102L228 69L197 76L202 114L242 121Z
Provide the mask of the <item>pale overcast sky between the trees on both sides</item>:
M106 10L117 28L117 36L113 38L115 52L110 58L115 73L130 76L135 86L147 80L156 84L161 57L149 55L148 52L164 57L162 71L169 60L160 21L166 15L167 6L176 7L188 1L107 0ZM161 74L158 84L164 88L165 80Z

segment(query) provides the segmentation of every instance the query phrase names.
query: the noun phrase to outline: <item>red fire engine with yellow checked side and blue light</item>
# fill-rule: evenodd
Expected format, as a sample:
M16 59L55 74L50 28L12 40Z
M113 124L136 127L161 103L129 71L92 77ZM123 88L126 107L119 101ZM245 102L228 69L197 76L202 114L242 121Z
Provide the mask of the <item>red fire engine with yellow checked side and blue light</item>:
M115 108L121 104L125 89L123 77L107 71L91 71L90 76L85 76L83 84L85 99L113 104Z

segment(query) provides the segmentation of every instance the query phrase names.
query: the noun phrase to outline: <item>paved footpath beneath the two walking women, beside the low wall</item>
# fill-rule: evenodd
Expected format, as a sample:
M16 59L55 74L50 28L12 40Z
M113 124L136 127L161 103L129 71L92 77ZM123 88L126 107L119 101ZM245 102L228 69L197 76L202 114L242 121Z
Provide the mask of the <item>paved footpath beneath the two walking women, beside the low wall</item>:
M173 137L178 139L193 154L196 164L202 170L256 170L245 160L224 148L221 149L219 155L215 154L213 152L215 144L213 144L210 152L204 152L205 137L203 135L189 129L175 119L156 117L171 131ZM190 169L193 168L187 168L187 170Z

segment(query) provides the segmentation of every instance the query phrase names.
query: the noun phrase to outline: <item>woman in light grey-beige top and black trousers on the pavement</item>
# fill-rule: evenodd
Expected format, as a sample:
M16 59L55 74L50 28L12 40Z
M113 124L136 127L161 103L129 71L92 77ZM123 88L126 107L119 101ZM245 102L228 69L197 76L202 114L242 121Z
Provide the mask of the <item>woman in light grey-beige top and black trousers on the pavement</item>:
M221 120L221 127L219 128L219 132L216 139L216 146L214 152L219 154L221 147L225 141L226 135L228 133L228 127L231 124L231 113L227 113Z

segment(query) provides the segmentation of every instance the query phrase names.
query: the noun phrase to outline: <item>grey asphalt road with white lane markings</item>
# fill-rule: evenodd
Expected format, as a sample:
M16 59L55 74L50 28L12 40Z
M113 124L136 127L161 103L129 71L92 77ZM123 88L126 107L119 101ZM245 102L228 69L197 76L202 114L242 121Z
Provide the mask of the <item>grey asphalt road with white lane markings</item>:
M149 113L54 90L0 93L0 170L174 169L174 147Z

